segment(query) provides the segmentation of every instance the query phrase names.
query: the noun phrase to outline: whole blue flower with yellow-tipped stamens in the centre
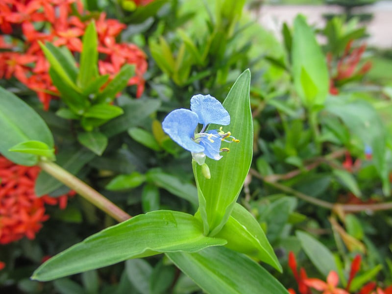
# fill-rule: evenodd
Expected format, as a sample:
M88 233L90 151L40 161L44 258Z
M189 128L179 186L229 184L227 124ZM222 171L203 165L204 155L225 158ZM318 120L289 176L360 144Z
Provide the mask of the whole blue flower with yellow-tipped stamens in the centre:
M200 132L199 123L203 125ZM222 141L230 142L226 140L230 137L231 142L239 142L230 132L223 132L222 127L205 131L210 123L228 125L230 115L217 99L199 94L191 98L191 110L173 110L164 119L162 127L174 142L191 151L196 162L202 165L205 156L219 160L222 157L220 152L228 151L228 148L221 149Z

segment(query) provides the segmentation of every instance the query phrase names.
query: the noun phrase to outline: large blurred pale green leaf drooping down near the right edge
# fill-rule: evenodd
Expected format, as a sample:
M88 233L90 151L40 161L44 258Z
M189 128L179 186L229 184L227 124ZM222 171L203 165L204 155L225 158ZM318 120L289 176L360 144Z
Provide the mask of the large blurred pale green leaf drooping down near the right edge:
M391 188L385 160L386 131L377 111L367 101L342 96L328 97L325 109L338 116L351 134L361 139L364 149L366 145L372 148L372 160L383 181L384 193L389 195Z

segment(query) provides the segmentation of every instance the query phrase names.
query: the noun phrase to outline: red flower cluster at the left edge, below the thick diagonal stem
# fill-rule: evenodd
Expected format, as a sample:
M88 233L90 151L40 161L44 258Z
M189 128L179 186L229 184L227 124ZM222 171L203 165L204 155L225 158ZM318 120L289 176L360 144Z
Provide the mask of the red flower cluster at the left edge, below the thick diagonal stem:
M25 167L12 163L0 155L0 244L8 244L27 237L34 239L42 222L49 219L45 204L67 207L70 193L60 197L37 197L34 183L39 167ZM0 265L1 266L1 265Z

